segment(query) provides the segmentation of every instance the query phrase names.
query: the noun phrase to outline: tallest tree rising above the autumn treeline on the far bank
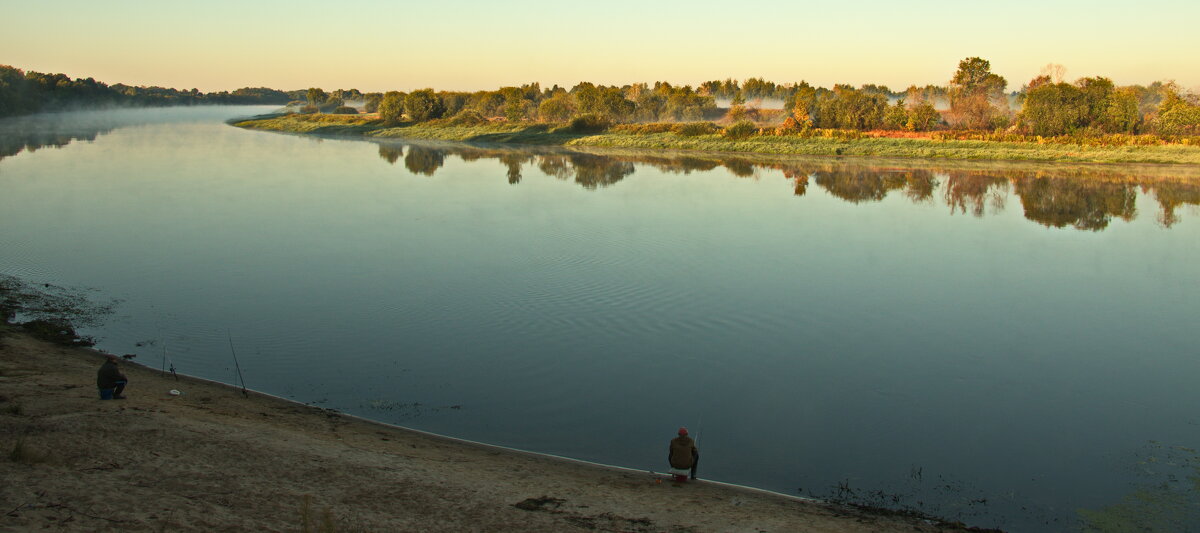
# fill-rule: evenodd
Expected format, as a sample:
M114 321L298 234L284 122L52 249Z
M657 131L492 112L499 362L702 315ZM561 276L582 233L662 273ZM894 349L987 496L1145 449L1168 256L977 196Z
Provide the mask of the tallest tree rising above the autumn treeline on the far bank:
M1007 116L1004 88L1008 82L991 73L991 62L980 58L959 61L950 79L950 116L954 126L971 130L992 127Z

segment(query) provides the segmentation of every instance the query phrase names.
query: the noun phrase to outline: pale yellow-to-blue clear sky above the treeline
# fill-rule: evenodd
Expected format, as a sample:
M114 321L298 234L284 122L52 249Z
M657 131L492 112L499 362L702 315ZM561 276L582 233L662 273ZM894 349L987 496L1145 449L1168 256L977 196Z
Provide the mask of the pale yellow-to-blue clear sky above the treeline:
M0 64L202 91L481 90L762 77L946 84L964 58L1015 90L1067 79L1200 91L1200 1L0 0Z

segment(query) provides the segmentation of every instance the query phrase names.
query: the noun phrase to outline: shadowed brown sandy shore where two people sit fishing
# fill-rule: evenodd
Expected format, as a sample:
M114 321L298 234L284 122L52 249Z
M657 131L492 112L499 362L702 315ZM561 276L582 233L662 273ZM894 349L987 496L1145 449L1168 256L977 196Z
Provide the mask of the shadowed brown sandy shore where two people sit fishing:
M0 325L0 531L962 531L462 443L132 364L128 399L100 401L101 363Z

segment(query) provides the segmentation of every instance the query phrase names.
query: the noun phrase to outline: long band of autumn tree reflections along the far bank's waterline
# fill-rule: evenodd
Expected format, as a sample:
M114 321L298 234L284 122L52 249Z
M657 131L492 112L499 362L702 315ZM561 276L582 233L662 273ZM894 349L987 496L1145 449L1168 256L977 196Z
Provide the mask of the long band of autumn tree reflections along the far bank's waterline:
M1127 222L1136 218L1139 191L1158 202L1156 220L1168 228L1181 221L1178 208L1200 205L1200 181L1189 175L1194 169L1186 167L954 166L924 161L888 166L840 158L750 158L457 144L379 145L379 157L391 164L403 157L404 168L418 175L434 175L449 156L463 161L494 158L504 166L505 176L512 185L522 181L527 168L533 168L545 176L599 190L617 185L641 164L674 174L718 168L738 178L782 174L794 184L794 196L808 194L810 185L816 184L830 196L852 204L883 202L893 194L901 194L913 203L931 203L941 190L942 202L952 215L976 217L1003 211L1009 197L1015 194L1025 218L1030 221L1049 228L1069 227L1091 232L1108 228L1114 218Z

